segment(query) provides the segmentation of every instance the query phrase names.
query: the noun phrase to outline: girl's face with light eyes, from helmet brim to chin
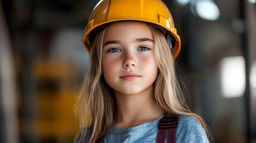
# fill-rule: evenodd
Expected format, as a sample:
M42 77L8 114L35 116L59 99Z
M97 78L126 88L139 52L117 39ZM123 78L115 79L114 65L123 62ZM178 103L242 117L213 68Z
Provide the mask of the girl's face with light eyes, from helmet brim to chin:
M158 67L149 26L124 21L107 27L102 71L107 84L120 94L134 95L153 88Z

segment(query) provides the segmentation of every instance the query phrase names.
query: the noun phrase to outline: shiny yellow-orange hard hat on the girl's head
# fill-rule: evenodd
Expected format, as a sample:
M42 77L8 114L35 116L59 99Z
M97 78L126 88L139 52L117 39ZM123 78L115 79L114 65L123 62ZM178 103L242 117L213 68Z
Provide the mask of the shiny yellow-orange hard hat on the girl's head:
M82 43L90 52L90 37L103 24L115 21L144 21L153 24L166 36L174 59L180 52L180 36L174 27L172 15L161 0L101 0L93 9L88 20ZM175 39L171 42L171 39Z

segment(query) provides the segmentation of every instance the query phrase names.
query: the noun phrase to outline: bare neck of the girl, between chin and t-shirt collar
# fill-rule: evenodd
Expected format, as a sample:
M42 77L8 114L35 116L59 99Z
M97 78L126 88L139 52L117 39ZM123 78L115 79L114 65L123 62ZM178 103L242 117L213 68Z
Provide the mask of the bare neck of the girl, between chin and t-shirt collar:
M153 85L135 94L125 95L115 91L116 114L113 128L131 128L152 122L162 116L163 111L153 98Z

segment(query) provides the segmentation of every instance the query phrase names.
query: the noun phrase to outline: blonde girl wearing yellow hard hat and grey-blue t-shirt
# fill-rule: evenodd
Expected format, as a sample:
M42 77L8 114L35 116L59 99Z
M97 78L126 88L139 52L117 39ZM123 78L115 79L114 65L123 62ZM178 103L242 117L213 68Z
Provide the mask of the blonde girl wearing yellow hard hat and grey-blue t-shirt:
M209 142L205 122L182 98L174 68L180 38L161 0L100 1L83 43L91 58L75 142ZM176 119L168 131L166 119Z

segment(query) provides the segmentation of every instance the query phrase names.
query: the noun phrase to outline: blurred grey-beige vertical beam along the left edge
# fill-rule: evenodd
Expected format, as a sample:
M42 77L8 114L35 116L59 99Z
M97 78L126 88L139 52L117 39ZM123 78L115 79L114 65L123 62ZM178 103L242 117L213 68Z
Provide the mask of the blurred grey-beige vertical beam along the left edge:
M3 14L2 2L0 1L0 83L1 83L1 108L4 116L4 136L7 143L18 143L18 113L17 94L14 79L13 55L7 24ZM2 128L2 126L1 126Z

